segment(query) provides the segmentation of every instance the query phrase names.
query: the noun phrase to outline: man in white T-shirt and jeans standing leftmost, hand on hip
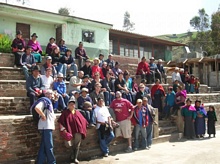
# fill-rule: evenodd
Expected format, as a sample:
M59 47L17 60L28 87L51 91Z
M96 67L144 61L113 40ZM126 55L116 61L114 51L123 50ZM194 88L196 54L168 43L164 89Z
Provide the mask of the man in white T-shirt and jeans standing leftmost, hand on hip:
M38 152L37 164L45 163L45 158L48 164L55 164L56 160L53 153L53 133L55 129L55 115L53 111L52 90L45 92L45 101L39 101L36 104L35 110L40 116L38 122L38 130L41 134L40 150Z

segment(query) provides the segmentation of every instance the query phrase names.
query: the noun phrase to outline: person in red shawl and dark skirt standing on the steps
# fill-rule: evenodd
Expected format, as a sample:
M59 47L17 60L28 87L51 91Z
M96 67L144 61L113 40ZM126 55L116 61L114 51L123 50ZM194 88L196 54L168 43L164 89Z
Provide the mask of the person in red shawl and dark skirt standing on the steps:
M163 106L162 106L162 99L165 96L165 91L163 86L160 84L160 80L156 79L155 84L151 88L151 97L153 100L153 107L157 108L159 111L159 119L162 119L162 112L163 112Z

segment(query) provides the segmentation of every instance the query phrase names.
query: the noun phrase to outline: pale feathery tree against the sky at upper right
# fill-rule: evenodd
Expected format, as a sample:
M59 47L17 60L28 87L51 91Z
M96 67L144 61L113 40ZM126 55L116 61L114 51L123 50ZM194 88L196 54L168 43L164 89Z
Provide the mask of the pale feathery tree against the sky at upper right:
M206 14L205 9L199 10L199 16L194 16L190 20L190 25L197 31L205 31L209 28L209 15Z

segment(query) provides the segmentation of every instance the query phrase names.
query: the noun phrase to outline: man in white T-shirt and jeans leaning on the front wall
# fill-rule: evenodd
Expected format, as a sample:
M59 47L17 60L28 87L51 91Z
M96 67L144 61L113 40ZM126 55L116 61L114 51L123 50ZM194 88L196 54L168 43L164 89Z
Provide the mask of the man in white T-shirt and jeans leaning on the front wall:
M96 129L98 130L100 148L105 157L108 157L108 144L115 137L111 124L111 115L108 108L104 105L104 100L98 98L98 103L94 109L96 117Z

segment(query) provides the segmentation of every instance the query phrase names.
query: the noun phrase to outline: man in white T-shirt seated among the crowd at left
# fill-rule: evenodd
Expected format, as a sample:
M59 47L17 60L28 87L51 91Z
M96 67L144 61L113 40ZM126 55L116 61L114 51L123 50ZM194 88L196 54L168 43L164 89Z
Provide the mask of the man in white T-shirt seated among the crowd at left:
M45 75L41 75L42 83L43 83L43 88L46 89L52 89L53 86L53 78L52 78L52 68L48 67L46 69Z

